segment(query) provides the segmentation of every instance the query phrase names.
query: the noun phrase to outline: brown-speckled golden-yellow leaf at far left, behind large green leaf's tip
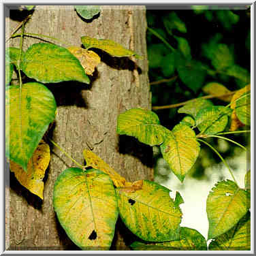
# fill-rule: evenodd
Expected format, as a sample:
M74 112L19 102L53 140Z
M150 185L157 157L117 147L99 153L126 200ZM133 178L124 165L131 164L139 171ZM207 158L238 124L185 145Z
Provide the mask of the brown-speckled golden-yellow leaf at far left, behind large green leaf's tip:
M18 182L31 193L43 199L44 174L50 162L50 147L44 140L39 142L37 149L29 160L27 172L20 165L10 161L10 171L14 172Z

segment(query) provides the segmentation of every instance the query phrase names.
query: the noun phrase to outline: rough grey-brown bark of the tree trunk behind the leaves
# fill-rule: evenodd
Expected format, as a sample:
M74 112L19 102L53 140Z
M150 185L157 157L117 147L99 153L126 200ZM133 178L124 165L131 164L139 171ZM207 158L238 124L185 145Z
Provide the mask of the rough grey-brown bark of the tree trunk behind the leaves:
M103 6L98 18L86 22L72 6L37 6L25 27L27 33L51 35L74 46L81 45L82 35L112 39L144 55L138 61L113 58L98 50L102 62L90 85L78 82L47 85L58 105L56 122L49 132L52 139L80 163L84 162L82 150L93 150L131 181L153 178L152 149L116 134L118 114L129 108L150 109L145 13L144 6ZM14 20L17 14L11 11L6 19L7 36L18 25ZM23 50L37 42L25 37ZM18 44L16 38L7 46L18 47ZM52 151L43 202L10 174L10 190L6 189L7 250L79 250L65 234L52 205L57 176L75 165L57 148L52 147ZM117 229L111 249L126 250L132 236L120 220Z

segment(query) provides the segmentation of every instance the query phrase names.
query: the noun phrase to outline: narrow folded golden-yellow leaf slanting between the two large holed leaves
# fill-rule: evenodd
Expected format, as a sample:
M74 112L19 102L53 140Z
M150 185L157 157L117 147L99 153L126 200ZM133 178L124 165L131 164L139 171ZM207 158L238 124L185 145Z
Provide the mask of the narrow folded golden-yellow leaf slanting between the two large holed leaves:
M84 150L83 155L86 161L86 165L108 174L116 187L125 187L125 185L127 185L125 178L115 172L115 170L110 167L108 163L105 163L95 153L91 152L90 150Z

